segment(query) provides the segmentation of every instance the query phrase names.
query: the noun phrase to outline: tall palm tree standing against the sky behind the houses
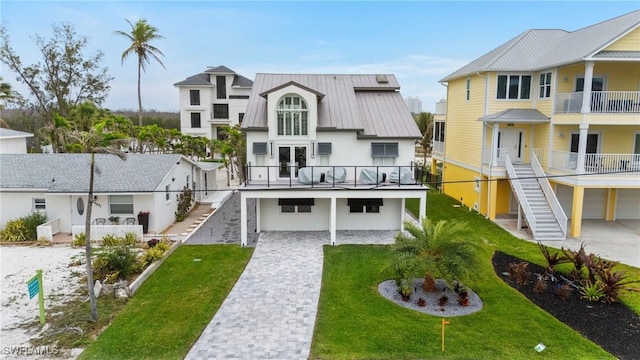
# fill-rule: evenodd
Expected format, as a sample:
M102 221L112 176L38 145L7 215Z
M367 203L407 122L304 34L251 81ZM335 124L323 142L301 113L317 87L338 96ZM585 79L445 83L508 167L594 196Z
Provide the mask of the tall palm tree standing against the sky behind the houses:
M131 21L126 20L131 26L131 32L115 31L116 35L121 35L131 41L131 45L122 53L121 63L124 64L124 59L129 55L135 53L138 55L138 125L142 126L142 95L140 92L140 74L145 71L145 64L150 63L150 58L155 59L162 65L164 64L158 57L158 55L164 56L160 49L151 45L150 42L164 38L164 36L157 33L158 29L147 23L146 19L138 20L135 25Z

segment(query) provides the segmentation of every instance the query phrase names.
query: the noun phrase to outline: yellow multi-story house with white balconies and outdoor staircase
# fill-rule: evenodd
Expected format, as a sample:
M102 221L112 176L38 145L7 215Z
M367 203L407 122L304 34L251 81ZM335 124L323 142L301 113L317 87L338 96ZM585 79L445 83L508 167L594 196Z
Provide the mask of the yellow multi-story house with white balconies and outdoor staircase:
M524 213L536 239L640 219L640 11L526 31L441 81L444 193L490 219Z

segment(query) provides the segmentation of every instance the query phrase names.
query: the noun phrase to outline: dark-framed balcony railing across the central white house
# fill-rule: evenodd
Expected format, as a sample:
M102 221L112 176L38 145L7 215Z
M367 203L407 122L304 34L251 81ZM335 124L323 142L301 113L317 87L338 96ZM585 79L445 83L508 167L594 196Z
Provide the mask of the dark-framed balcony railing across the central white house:
M246 187L371 188L422 186L415 164L409 166L246 166Z

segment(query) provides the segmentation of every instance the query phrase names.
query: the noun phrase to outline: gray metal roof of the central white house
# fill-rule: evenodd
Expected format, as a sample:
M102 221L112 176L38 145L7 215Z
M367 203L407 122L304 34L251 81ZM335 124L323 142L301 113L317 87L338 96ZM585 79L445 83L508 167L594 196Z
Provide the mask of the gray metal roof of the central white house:
M383 78L384 81L379 81ZM394 75L256 74L242 127L267 128L267 95L285 84L302 87L318 97L318 130L354 130L360 136L420 138Z

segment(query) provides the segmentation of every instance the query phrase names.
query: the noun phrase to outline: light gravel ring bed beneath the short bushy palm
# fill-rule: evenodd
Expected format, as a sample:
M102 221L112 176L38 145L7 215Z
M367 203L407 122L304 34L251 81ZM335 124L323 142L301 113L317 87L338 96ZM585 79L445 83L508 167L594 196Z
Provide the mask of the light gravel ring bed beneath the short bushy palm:
M461 306L458 304L458 295L446 287L444 280L436 280L436 292L425 292L422 290L422 283L424 279L414 279L414 292L411 294L409 301L402 300L402 296L398 292L398 286L396 286L395 280L387 280L381 282L378 285L378 292L388 300L394 303L404 306L408 309L420 311L425 314L453 317L473 314L482 309L482 300L471 289L467 288L469 293L469 305ZM449 300L444 307L438 305L438 299L445 295ZM418 306L418 299L423 298L426 300L425 306Z

